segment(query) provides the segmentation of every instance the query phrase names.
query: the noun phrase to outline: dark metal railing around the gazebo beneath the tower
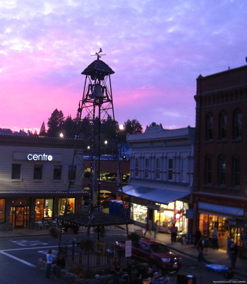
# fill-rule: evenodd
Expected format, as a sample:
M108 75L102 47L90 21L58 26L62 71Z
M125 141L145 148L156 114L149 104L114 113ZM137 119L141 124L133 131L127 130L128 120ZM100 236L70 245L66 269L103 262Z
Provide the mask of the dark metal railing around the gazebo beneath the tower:
M115 257L120 259L121 264L126 263L124 249L115 250L115 245L110 243L107 243L105 253L95 252L94 250L82 250L74 242L61 244L60 251L63 252L67 261L84 268L111 266Z

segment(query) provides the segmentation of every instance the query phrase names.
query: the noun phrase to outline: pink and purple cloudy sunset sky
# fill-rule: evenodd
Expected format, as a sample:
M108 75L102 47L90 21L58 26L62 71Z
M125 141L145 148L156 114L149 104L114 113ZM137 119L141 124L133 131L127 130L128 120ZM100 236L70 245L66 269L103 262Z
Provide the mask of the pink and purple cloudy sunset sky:
M0 127L39 133L57 108L76 116L102 56L115 119L195 126L196 78L245 65L246 0L1 0Z

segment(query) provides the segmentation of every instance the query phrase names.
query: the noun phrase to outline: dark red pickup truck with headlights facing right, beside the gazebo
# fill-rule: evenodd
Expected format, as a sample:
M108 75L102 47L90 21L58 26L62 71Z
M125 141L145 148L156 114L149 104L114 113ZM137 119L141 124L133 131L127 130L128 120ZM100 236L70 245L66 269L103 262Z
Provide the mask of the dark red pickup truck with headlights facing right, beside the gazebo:
M124 249L125 242L116 242L115 248ZM182 267L182 258L169 250L166 245L151 239L140 239L136 246L132 244L132 257L147 262L152 268L178 271Z

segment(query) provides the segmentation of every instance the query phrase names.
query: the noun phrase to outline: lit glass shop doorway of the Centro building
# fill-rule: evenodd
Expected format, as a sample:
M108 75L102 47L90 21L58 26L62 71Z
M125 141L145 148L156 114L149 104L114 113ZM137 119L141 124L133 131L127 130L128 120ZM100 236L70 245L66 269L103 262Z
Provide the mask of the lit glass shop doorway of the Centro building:
M29 222L29 206L10 207L10 222L13 228L26 228Z

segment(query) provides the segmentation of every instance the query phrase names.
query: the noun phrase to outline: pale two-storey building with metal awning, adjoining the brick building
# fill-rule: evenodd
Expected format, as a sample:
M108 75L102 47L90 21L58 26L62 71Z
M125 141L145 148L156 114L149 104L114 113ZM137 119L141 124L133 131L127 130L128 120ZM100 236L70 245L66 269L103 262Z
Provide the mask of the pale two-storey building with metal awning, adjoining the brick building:
M148 127L142 134L128 134L131 147L130 179L123 187L129 214L138 225L159 220L160 230L176 223L187 230L194 173L195 128L165 130Z

